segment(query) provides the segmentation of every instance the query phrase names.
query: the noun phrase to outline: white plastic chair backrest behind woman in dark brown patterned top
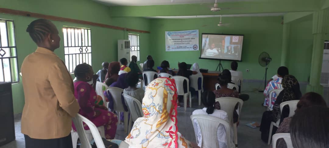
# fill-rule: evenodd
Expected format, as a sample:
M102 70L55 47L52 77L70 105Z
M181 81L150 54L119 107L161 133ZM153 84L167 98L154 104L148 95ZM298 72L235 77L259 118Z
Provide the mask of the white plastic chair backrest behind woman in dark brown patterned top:
M235 108L235 105L239 103L238 108L238 114L240 118L240 112L243 105L243 100L239 98L232 98L232 97L224 97L224 98L216 98L216 102L219 102L220 110L226 111L228 114L228 120L230 121L230 124L233 125L233 111Z

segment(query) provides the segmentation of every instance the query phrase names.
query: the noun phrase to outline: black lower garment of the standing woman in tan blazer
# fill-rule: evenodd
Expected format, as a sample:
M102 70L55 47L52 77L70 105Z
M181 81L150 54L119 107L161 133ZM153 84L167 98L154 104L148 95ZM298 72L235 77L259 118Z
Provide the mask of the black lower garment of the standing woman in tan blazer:
M56 139L34 139L27 135L25 137L26 148L73 148L70 135Z

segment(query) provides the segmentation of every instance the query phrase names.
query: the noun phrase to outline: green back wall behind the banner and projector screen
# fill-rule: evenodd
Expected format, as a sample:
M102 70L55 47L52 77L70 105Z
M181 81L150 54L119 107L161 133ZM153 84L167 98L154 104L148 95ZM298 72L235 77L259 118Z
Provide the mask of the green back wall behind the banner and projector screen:
M269 17L223 17L223 23L229 27L218 27L219 18L195 19L152 19L150 49L156 65L163 60L170 62L172 68L177 68L178 62L199 63L200 68L215 70L219 61L199 59L200 51L165 51L165 31L180 31L199 29L199 33L243 34L242 62L238 70L243 72L244 79L262 80L265 67L258 63L261 52L269 53L272 62L269 65L268 77L276 74L281 62L282 16ZM201 43L201 37L199 38ZM201 44L200 44L201 45ZM230 69L230 61L222 61L224 69ZM249 72L246 72L249 69Z

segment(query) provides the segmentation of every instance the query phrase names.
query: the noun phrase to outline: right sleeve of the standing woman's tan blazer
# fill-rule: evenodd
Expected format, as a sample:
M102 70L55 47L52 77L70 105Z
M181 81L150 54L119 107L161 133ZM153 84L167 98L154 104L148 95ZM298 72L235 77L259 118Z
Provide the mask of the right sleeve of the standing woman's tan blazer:
M79 112L79 104L74 97L71 76L63 63L54 63L49 70L48 80L58 98L59 106L71 117Z

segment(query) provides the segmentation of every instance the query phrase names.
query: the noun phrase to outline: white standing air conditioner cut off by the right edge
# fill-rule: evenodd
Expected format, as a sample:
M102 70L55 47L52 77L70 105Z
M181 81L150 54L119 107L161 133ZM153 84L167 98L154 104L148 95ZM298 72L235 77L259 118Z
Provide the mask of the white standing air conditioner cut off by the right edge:
M329 41L324 42L320 84L329 86Z

